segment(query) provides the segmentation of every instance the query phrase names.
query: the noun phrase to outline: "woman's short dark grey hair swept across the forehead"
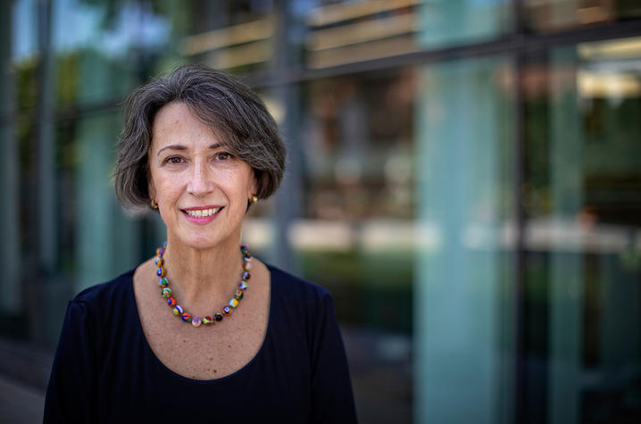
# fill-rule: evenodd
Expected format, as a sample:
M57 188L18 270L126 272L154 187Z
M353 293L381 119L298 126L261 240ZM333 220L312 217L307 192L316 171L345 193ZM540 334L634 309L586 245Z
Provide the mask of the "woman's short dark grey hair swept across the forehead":
M183 65L137 87L125 103L125 124L113 172L116 196L127 208L148 205L149 158L155 115L182 102L210 125L229 153L247 162L258 183L258 198L279 187L285 171L285 145L262 100L231 75L204 65Z

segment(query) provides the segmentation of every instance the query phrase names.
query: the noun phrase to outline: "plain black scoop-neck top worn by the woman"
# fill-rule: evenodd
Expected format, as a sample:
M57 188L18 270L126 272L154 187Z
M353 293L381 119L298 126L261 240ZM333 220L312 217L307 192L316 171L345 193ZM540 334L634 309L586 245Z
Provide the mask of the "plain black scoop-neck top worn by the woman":
M180 376L155 356L138 317L134 270L81 292L67 308L45 422L356 422L331 295L268 267L262 346L243 368L213 380Z

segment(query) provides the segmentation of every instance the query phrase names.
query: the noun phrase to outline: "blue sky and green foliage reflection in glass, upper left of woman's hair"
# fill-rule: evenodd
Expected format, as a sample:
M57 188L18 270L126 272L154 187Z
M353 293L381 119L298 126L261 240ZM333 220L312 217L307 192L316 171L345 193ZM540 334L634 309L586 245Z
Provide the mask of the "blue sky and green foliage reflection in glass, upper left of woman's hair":
M117 103L153 72L145 58L162 52L168 42L169 21L144 2L51 3L57 104ZM100 83L83 82L87 67L100 72Z

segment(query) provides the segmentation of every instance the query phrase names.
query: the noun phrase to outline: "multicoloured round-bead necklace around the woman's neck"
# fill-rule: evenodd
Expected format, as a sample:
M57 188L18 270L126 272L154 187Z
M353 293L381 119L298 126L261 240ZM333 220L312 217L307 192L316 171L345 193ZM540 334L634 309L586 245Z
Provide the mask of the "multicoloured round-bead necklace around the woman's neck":
M167 242L162 243L162 247L156 249L156 275L160 277L158 280L158 286L162 288L161 295L167 300L167 304L172 308L172 312L177 317L180 317L185 322L191 322L191 325L194 327L200 327L201 324L209 326L213 324L213 321L221 321L222 317L229 317L231 312L236 309L238 302L243 298L243 294L247 289L247 280L251 278L249 270L252 269L252 255L249 254L249 249L246 245L240 246L240 253L243 254L243 274L241 275L240 284L238 289L234 294L234 297L229 300L229 303L223 306L221 312L216 312L213 314L213 318L210 316L203 317L192 317L190 313L185 312L179 304L176 303L176 298L171 295L171 288L169 286L169 280L165 278L167 271L164 269L164 260L162 255L164 254L165 249L167 248Z

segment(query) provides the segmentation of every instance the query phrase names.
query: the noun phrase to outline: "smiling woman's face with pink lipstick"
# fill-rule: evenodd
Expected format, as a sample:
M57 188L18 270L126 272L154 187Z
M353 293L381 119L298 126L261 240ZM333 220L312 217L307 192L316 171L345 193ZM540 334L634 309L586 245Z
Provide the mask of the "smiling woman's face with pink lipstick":
M172 240L195 248L237 243L254 170L227 152L187 104L156 113L149 149L149 195Z

